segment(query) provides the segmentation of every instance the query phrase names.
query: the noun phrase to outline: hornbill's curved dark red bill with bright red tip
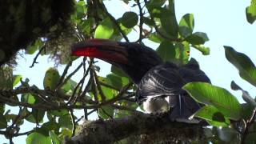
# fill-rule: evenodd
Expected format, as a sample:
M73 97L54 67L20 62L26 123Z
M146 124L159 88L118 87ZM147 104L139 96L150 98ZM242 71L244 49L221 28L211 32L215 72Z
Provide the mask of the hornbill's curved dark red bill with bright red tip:
M88 39L72 46L72 55L99 58L106 62L128 64L126 47L108 39Z

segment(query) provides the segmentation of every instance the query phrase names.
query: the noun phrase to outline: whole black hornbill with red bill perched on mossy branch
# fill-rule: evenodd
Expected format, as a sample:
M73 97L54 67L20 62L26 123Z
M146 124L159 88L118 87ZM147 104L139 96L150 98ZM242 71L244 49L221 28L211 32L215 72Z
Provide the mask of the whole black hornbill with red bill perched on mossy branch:
M136 100L147 113L170 110L170 119L178 122L199 122L189 119L199 108L185 90L188 82L209 82L198 64L177 66L163 62L155 50L135 42L114 42L89 39L72 46L75 56L99 58L122 69L138 86Z

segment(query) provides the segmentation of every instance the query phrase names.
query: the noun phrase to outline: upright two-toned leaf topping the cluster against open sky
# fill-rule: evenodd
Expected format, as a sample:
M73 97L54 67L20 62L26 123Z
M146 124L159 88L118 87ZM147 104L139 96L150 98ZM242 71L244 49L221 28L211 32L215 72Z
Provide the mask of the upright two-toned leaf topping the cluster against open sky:
M185 14L181 21L178 24L179 33L183 38L186 38L190 34L192 34L194 30L194 15L193 14Z

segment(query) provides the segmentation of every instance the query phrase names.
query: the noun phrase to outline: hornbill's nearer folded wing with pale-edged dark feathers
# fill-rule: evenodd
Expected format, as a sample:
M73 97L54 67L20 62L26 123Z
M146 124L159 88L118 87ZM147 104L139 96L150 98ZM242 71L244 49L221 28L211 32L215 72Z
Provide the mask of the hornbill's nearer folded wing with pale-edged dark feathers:
M171 64L155 66L138 84L138 103L141 104L148 98L180 94L183 83L178 74L178 66Z

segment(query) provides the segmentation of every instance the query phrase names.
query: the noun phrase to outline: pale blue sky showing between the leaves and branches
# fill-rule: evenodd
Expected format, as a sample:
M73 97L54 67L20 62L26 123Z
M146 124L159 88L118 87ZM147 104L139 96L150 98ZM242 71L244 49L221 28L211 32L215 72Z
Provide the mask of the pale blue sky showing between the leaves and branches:
M115 18L122 17L122 14L126 11L137 10L136 8L130 9L129 6L125 6L119 0L104 2L110 14L113 14ZM178 22L182 15L187 13L194 14L194 32L205 32L210 39L205 44L205 46L210 47L210 55L202 55L198 50L192 48L190 57L198 60L201 69L208 75L213 85L229 90L240 102L242 102L242 93L230 89L232 80L237 82L244 90L247 90L253 98L256 95L256 89L239 77L238 70L226 60L223 46L232 46L238 52L249 56L252 62L256 63L256 23L253 25L248 23L245 13L246 6L249 5L250 0L175 1ZM134 34L129 35L131 41L137 39ZM158 46L158 44L148 41L145 41L145 44L153 49ZM23 79L30 78L30 85L36 84L39 88L43 88L42 78L47 68L54 66L54 62L50 62L46 57L39 57L39 64L29 68L33 58L34 55L20 57L14 74L22 74ZM98 66L101 67L100 75L104 76L110 73L110 65L106 62L100 61ZM58 69L62 74L64 66L58 66ZM74 80L78 81L79 75L82 75L82 73L77 74ZM13 111L15 112L15 110ZM91 118L94 119L95 117ZM34 124L26 122L26 126L23 126L22 129L29 130L32 127L34 127ZM3 142L9 143L6 138L0 135L0 143ZM14 138L14 143L26 143L26 136Z

